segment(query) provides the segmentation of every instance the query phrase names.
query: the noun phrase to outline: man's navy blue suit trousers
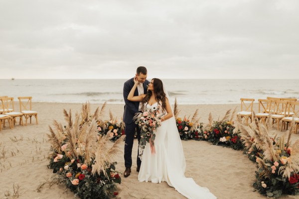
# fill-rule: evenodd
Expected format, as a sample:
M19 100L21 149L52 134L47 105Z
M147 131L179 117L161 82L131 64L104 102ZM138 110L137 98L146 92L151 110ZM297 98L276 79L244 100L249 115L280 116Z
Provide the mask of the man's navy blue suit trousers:
M132 148L134 143L134 134L135 129L137 129L137 138L138 138L138 144L140 142L140 128L135 122L132 122L130 124L126 123L125 126L125 134L126 134L126 140L125 140L125 167L131 168L132 167ZM139 149L137 153L137 166L140 168L141 160L138 157Z

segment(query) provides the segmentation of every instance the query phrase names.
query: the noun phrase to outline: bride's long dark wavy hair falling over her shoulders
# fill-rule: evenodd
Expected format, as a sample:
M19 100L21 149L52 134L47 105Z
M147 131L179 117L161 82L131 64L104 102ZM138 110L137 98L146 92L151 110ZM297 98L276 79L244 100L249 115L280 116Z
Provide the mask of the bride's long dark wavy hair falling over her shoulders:
M164 93L163 90L163 83L160 79L157 78L153 78L153 92L155 94L155 99L158 102L161 102L161 106L162 106L162 111L164 111L166 109L166 95ZM152 91L148 91L146 97L144 98L144 103L148 103L150 97L152 96Z

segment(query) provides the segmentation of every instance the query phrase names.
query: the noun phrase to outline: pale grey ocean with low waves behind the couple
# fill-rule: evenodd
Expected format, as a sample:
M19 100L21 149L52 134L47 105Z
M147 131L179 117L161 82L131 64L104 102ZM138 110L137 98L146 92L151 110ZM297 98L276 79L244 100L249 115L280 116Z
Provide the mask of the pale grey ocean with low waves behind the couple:
M179 104L240 103L240 98L299 99L299 80L162 80ZM32 101L124 104L124 79L101 80L0 80L0 96L31 96Z

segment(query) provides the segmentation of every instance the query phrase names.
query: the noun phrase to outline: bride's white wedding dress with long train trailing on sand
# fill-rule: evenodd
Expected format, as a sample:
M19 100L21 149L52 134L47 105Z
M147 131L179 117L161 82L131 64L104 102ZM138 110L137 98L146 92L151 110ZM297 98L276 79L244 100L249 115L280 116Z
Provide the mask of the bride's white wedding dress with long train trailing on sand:
M146 110L149 110L157 108L158 103L144 105ZM174 117L163 121L154 133L156 153L151 154L150 145L147 143L143 151L138 180L152 183L166 181L188 199L216 199L207 188L198 186L192 178L184 176L185 156Z

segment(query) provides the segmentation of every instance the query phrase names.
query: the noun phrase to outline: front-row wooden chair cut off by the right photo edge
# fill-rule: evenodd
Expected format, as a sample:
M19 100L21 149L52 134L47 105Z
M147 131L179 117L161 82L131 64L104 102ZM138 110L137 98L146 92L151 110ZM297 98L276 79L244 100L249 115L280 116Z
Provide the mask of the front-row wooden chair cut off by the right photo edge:
M295 121L295 133L298 131L298 125L299 125L299 101L289 101L288 102L288 110L287 112L293 113L292 115L288 114L286 117L282 119L282 129L287 124L286 130L288 130L289 123L291 123L293 120Z

